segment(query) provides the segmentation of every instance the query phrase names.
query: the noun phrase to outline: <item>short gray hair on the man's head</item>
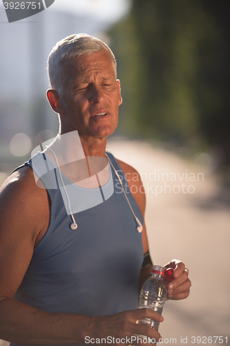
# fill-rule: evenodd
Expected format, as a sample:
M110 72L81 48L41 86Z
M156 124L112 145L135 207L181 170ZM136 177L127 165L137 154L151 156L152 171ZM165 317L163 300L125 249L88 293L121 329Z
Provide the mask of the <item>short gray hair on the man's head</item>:
M117 62L111 48L96 37L87 34L70 35L52 48L48 56L48 77L52 89L62 90L62 86L66 82L66 66L64 62L68 59L80 57L82 55L90 55L105 49L111 55L111 61L117 76Z

